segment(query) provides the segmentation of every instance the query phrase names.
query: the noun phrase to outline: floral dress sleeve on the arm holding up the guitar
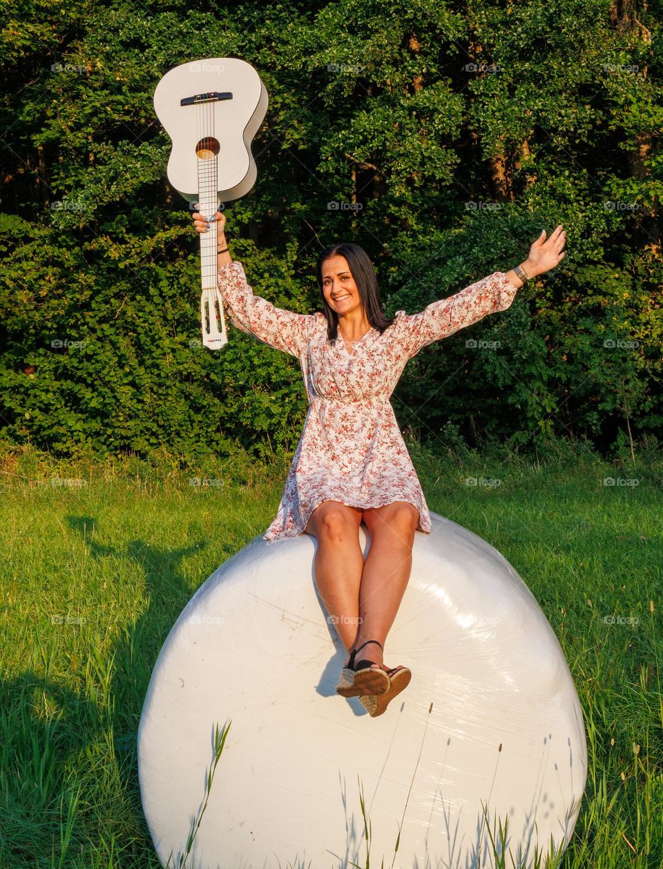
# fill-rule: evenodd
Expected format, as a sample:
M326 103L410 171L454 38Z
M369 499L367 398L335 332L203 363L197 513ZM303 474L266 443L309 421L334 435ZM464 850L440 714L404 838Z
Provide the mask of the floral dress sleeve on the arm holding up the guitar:
M236 328L264 344L299 358L307 345L310 314L295 314L275 308L267 299L254 295L241 262L227 262L219 269L219 292Z

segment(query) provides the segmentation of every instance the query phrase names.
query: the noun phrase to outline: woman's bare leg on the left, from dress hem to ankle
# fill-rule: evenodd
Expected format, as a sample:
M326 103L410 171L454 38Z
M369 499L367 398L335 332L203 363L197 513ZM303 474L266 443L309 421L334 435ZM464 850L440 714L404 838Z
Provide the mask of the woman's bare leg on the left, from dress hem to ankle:
M339 501L322 501L315 507L305 528L306 533L313 534L318 541L315 552L318 592L329 620L334 620L341 642L348 651L355 645L357 635L359 587L364 567L359 545L360 524L360 509L347 507ZM366 649L371 647L378 648L371 644Z

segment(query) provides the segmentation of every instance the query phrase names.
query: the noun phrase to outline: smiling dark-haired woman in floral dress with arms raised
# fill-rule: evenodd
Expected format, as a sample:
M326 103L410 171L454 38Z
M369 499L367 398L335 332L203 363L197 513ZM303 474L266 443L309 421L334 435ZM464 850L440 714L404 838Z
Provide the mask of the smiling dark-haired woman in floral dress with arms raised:
M218 222L219 290L231 322L302 366L308 414L278 514L263 537L306 532L317 538L315 581L348 650L336 691L358 696L375 717L411 678L408 667L386 667L382 652L408 584L414 534L431 528L389 396L422 347L506 310L521 278L554 269L565 256L566 233L560 225L545 241L544 230L520 266L494 272L418 314L397 311L394 317L382 311L368 255L355 244L336 244L316 266L322 313L306 315L253 295L242 263L230 256L225 216L196 212L193 219L197 232ZM371 540L366 561L361 521Z

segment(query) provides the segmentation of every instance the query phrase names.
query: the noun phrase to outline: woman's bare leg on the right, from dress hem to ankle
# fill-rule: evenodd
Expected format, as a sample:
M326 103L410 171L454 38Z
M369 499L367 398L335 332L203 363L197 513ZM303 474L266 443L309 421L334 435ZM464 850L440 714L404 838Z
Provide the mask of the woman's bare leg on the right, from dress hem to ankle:
M406 501L394 501L364 510L363 520L371 546L361 574L357 646L366 640L378 640L384 646L412 571L419 511ZM361 658L381 664L380 647L371 643L362 649Z

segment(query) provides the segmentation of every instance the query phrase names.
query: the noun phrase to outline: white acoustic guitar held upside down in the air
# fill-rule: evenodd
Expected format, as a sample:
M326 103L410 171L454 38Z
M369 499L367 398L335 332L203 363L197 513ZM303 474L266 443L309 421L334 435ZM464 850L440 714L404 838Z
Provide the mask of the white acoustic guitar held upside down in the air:
M208 57L182 63L157 84L156 116L173 149L168 180L202 216L249 193L257 175L251 141L267 112L267 90L246 61ZM200 235L202 343L228 343L216 279L216 223Z

